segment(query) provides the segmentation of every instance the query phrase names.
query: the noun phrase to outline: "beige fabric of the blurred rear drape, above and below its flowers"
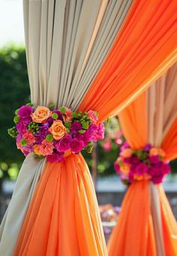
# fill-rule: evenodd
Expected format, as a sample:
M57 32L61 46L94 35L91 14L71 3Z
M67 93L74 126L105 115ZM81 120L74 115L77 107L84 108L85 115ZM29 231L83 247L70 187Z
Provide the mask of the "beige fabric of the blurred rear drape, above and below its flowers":
M160 147L172 123L177 118L177 64L169 68L148 89L148 142ZM165 255L162 222L160 214L160 198L157 186L151 183L151 212L154 233L159 255Z

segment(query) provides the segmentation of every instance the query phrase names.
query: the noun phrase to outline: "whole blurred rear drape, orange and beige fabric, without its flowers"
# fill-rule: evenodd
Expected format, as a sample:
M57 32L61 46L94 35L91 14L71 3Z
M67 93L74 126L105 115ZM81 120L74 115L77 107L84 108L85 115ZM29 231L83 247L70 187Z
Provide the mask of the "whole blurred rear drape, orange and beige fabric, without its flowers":
M169 160L176 157L177 146L176 68L173 65L119 114L133 149L151 143L162 147ZM130 185L108 248L110 255L176 255L177 223L161 185L147 181Z

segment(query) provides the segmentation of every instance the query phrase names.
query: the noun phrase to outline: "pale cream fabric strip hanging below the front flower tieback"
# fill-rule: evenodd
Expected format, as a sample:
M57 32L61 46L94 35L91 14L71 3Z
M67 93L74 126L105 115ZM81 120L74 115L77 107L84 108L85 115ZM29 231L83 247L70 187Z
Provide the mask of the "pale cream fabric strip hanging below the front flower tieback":
M45 159L39 160L28 155L23 162L20 174L15 185L13 196L7 208L0 228L0 255L12 255L16 245L17 231L23 223L28 204L30 203L34 188L45 166Z

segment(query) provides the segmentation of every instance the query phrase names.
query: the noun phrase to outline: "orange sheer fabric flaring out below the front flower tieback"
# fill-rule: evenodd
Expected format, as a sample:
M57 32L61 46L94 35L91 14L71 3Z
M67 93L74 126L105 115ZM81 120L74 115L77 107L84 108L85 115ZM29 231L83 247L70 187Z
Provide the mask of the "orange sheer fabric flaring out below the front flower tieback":
M14 255L107 255L92 184L82 155L47 163Z

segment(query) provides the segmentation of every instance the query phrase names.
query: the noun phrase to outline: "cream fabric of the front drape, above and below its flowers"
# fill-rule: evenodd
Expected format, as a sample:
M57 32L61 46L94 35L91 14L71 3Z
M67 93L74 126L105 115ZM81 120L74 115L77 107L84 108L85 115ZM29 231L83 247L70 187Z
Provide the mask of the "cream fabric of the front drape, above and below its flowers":
M132 0L23 0L26 56L35 106L77 108L104 62ZM10 256L44 162L27 157L0 227Z

